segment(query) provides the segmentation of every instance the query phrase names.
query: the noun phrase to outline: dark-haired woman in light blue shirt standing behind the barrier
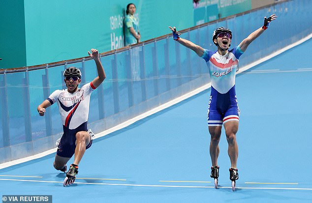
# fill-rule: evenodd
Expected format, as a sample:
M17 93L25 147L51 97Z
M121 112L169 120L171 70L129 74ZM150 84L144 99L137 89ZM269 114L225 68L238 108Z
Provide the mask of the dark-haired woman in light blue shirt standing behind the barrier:
M139 19L134 16L136 7L133 3L127 5L125 11L125 46L140 42Z

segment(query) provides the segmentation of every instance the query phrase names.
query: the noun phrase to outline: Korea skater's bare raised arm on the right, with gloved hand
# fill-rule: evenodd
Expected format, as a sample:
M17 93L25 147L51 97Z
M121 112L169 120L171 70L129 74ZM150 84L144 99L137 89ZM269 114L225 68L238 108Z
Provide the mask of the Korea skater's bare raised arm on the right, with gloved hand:
M244 39L240 44L239 47L243 52L247 50L247 47L250 45L250 43L255 40L260 34L264 32L269 27L270 22L276 20L277 16L275 14L271 15L269 18L264 17L264 25L262 28L256 29L254 32L252 32L246 39Z

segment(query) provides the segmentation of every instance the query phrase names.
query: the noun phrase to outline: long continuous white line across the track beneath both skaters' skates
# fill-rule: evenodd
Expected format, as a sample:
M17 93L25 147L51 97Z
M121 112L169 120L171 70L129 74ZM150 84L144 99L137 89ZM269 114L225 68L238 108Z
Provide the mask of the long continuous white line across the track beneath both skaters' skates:
M46 182L46 183L63 183L61 181L46 181L46 180L23 180L23 179L0 179L9 181L24 181L24 182ZM184 186L184 185L142 185L142 184L117 184L117 183L90 183L90 182L75 182L74 184L88 185L118 185L118 186L141 186L141 187L171 187L171 188L215 188L215 186ZM230 188L232 187L218 187ZM312 188L282 188L282 187L236 187L236 189L257 189L257 190L311 190Z

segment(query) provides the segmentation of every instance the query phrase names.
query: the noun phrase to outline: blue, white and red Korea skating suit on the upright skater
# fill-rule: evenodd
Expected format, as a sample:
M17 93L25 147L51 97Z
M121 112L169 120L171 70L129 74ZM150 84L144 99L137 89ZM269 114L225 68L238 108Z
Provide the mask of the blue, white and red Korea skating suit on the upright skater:
M230 120L239 121L240 110L235 92L235 75L238 60L244 52L235 47L224 56L218 51L204 51L211 78L211 94L208 106L208 126L222 126Z

